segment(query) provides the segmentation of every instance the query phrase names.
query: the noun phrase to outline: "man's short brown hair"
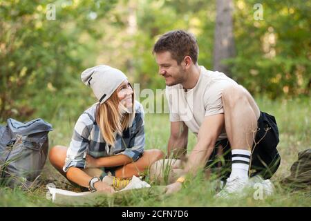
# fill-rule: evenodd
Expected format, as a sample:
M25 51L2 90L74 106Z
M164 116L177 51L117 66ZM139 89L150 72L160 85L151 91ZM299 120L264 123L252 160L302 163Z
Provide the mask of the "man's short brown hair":
M198 43L196 37L184 30L172 30L165 33L153 46L152 53L171 52L171 57L178 65L186 56L190 56L194 64L198 61Z

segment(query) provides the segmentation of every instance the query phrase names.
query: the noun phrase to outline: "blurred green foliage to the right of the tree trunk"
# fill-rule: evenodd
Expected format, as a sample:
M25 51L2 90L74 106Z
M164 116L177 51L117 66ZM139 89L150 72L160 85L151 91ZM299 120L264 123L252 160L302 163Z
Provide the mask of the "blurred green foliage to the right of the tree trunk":
M255 3L263 20L256 21ZM311 84L310 1L236 1L237 55L232 76L252 93L270 98L309 95Z

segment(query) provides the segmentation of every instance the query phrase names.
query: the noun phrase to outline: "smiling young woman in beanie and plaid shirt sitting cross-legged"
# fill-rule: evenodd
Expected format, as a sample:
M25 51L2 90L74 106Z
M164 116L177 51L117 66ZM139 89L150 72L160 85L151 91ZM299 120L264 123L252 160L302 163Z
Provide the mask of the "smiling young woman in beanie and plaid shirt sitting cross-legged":
M112 193L110 181L103 180L113 177L120 184L149 169L164 153L144 151L144 110L124 73L100 65L84 70L81 78L99 102L80 115L69 148L50 149L50 163L70 182Z

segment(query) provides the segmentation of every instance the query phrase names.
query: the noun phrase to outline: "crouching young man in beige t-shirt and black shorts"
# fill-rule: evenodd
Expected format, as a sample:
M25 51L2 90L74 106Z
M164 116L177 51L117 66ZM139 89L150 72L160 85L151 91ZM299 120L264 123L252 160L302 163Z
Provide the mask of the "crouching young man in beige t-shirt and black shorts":
M270 178L280 164L274 117L259 111L253 97L236 81L198 65L194 35L183 30L167 32L154 45L153 54L167 85L168 155L185 155L188 129L198 138L182 175L167 186L167 193L179 191L186 174L195 175L204 166L213 168L219 153L231 167L231 173L224 175L227 183L220 197L247 186L249 164L251 175Z

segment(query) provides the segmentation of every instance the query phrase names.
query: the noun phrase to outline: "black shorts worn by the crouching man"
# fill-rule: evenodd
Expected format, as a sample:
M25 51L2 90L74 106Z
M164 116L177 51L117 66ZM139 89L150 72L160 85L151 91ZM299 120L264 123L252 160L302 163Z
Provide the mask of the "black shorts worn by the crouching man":
M274 116L261 112L258 119L258 128L255 143L252 146L252 160L250 176L261 175L269 179L279 168L281 157L276 150L279 144L279 130ZM220 146L221 145L221 146ZM222 155L217 155L218 148L222 148ZM220 178L227 179L231 173L232 154L228 139L216 142L214 151L211 153L206 168L217 172Z

